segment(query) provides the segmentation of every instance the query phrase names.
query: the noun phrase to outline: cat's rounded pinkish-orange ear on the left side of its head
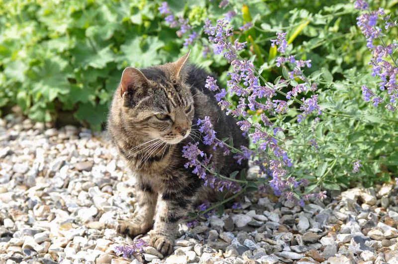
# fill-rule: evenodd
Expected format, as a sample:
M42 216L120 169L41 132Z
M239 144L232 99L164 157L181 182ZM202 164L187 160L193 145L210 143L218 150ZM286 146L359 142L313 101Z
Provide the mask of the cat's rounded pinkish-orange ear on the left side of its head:
M149 85L148 79L138 69L134 67L127 67L124 69L120 80L120 96L126 92L132 92L134 97L141 97L147 90Z

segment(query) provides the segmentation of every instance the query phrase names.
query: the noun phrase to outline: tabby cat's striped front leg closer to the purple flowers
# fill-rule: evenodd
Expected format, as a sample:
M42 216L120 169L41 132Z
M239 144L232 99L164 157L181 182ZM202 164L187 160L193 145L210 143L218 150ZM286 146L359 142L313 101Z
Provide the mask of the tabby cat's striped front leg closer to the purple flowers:
M178 224L188 214L192 206L192 196L168 190L162 194L158 205L154 234L150 237L149 245L166 256L173 251Z

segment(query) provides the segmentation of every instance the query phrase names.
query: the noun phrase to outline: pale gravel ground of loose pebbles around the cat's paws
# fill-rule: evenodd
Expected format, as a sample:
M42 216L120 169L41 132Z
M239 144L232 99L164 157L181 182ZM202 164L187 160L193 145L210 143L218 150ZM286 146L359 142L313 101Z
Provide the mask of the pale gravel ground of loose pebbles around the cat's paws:
M150 247L116 256L115 246L133 242L114 227L136 201L104 136L0 119L0 263L398 263L393 184L335 192L303 208L251 193L242 209L181 225L170 257Z

